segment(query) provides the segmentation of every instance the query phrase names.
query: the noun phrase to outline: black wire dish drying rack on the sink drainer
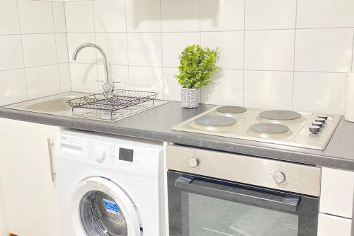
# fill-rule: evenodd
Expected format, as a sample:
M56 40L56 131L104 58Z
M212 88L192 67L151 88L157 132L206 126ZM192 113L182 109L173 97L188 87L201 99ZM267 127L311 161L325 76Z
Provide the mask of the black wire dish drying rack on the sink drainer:
M153 107L158 93L116 89L110 91L109 94L110 96L107 92L91 94L70 99L67 102L77 116L98 120L117 120L117 116L126 117Z

